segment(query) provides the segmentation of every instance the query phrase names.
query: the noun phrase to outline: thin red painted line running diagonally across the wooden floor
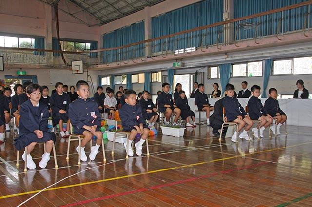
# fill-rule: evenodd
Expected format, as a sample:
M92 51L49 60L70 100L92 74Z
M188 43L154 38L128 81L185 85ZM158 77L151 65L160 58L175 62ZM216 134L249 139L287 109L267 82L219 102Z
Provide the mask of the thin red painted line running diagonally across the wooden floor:
M108 196L104 196L104 197L100 197L100 198L93 198L93 199L89 199L89 200L85 200L85 201L79 201L77 203L67 204L67 205L64 205L64 206L61 206L61 207L76 206L76 205L79 205L79 204L85 204L85 203L90 203L90 202L99 201L99 200L103 200L103 199L114 198L114 197L121 196L121 195L128 195L128 194L132 194L132 193L136 193L136 192L142 192L142 191L146 191L146 190L149 190L149 189L152 190L152 189L156 189L156 188L172 186L172 185L175 185L175 184L190 182L190 181L198 180L198 179L201 179L201 178L212 177L212 176L215 176L215 175L218 175L218 174L225 174L225 173L233 172L233 171L236 171L236 170L248 169L248 168L256 167L256 166L259 166L259 165L265 165L265 164L268 164L268 163L272 163L274 161L276 161L276 160L262 162L262 163L258 163L258 164L254 164L254 165L249 165L249 166L242 167L242 168L236 168L236 169L230 169L230 170L226 170L226 171L222 171L222 172L216 172L216 173L213 173L213 174L203 175L203 176L200 176L200 177L190 178L190 179L186 179L186 180L180 180L180 181L176 181L176 182L168 183L168 184L164 184L164 185L159 185L159 186L154 186L154 187L149 187L149 188L142 188L142 189L132 190L132 191L118 193L118 194L114 194L114 195L108 195Z

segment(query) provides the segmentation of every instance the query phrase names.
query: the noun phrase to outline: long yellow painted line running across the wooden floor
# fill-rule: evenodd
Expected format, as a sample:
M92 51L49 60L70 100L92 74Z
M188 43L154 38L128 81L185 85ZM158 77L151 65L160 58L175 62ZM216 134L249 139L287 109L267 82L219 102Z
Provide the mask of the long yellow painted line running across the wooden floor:
M285 149L285 148L296 147L296 146L306 145L306 144L310 144L310 143L312 143L312 142L301 143L301 144L296 144L296 145L291 145L291 146L288 146L288 147L281 147L281 148L276 148L276 149L269 149L269 150L265 150L265 151L257 151L257 152L251 153L251 154L268 152L268 151L275 151L275 150L281 150L281 149ZM244 156L251 155L251 154L245 154ZM243 155L236 155L236 156L232 156L232 157L225 157L225 158L220 158L220 159L215 159L215 160L210 160L210 161L200 162L200 163L193 163L193 164L183 165L183 166L178 166L178 167L173 167L173 168L157 169L157 170L153 170L153 171L142 172L142 173L137 173L137 174L132 174L132 175L124 175L124 176L113 177L113 178L107 178L107 179L102 179L102 180L97 180L97 181L89 181L89 182L85 182L85 183L78 183L78 184L72 184L72 185L67 185L67 186L60 186L60 187L55 187L55 188L47 188L47 189L44 189L44 190L41 189L41 190L33 190L33 191L28 191L28 192L4 195L4 196L0 196L0 199L16 197L16 196L20 196L20 195L33 194L33 193L38 193L40 191L50 191L50 190L57 190L57 189L63 189L63 188L72 188L72 187L77 187L77 186L84 186L84 185L89 185L89 184L95 184L95 183L107 182L107 181L112 181L112 180L119 180L119 179L123 179L123 178L135 177L135 176L138 176L138 175L152 174L152 173L156 173L156 172L163 172L163 171L168 171L168 170L172 170L172 169L180 169L180 168L192 167L192 166L196 166L196 165L202 165L202 164L207 164L207 163L212 163L212 162L217 162L217 161L233 159L233 158L237 158L237 157L241 157L241 156L243 156ZM76 174L78 174L78 173L76 173Z

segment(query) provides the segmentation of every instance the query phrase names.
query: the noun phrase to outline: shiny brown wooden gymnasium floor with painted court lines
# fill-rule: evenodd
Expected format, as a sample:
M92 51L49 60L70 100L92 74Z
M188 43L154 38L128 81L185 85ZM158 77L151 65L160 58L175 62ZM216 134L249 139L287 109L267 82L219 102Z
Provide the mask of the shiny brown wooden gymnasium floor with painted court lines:
M160 131L160 130L159 130ZM76 143L66 162L67 140L57 139L46 169L38 163L43 145L32 156L37 169L15 165L12 132L0 145L0 206L14 207L308 207L312 206L312 129L288 126L288 136L253 141L229 138L219 143L207 126L187 129L184 137L149 137L151 155L125 159L117 144L105 141L107 162L98 153L78 166ZM86 147L87 155L89 148ZM100 148L101 149L101 148Z

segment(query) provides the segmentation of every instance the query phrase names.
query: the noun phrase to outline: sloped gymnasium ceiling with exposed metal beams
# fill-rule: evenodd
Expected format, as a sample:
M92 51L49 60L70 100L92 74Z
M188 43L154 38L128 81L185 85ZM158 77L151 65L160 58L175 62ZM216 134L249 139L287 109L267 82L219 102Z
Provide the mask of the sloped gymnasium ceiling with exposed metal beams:
M153 6L164 0L39 0L55 7L78 21L92 26L108 22L135 13L147 6Z

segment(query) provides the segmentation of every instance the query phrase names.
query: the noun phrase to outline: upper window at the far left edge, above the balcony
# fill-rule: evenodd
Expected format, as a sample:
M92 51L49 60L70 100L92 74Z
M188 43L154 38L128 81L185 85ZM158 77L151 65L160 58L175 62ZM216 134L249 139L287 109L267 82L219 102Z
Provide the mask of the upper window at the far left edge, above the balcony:
M0 36L0 47L35 48L34 38Z

